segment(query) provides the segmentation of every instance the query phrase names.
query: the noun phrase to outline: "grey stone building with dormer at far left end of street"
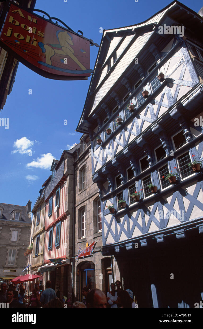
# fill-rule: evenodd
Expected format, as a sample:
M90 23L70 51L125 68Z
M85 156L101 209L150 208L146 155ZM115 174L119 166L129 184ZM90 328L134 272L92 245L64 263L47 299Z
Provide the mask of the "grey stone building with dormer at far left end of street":
M26 206L0 203L0 277L6 281L23 275L31 234L31 201Z

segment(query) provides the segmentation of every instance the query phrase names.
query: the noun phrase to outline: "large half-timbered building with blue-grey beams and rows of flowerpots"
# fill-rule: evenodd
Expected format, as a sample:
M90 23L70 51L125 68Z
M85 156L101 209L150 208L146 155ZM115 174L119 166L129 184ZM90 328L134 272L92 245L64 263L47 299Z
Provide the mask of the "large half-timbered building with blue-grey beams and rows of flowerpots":
M191 166L203 157L202 24L174 1L104 31L77 127L91 139L102 254L139 307L202 299L203 171Z

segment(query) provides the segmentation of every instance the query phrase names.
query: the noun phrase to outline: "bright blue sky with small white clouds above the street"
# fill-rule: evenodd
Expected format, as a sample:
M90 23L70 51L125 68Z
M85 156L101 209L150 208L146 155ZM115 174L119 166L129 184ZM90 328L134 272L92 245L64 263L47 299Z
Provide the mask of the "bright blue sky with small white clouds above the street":
M112 29L142 22L170 2L149 0L37 0L35 8L64 21L72 30L100 44L100 28ZM183 1L198 12L200 0ZM98 47L90 47L94 68ZM32 206L50 175L52 159L78 143L76 133L91 77L84 81L44 78L19 63L12 92L0 112L9 129L0 127L0 202ZM29 95L28 89L32 89ZM68 120L64 126L64 120ZM31 156L32 151L32 156Z

